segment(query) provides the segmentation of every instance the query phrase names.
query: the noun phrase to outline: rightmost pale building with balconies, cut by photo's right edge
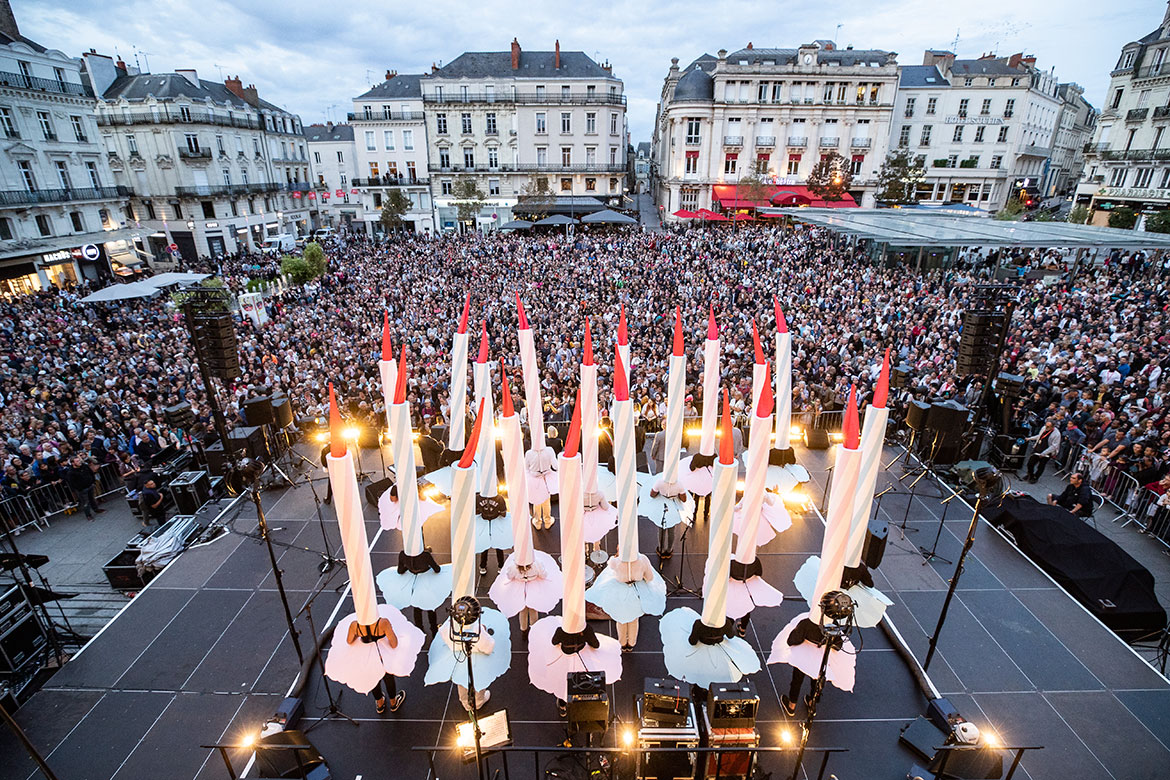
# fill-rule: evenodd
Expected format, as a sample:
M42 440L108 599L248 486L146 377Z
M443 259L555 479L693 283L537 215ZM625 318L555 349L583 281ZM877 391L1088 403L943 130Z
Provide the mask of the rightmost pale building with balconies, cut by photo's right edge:
M1085 147L1085 172L1076 202L1094 225L1109 212L1170 208L1170 4L1162 23L1121 47L1109 74L1109 91L1093 141Z

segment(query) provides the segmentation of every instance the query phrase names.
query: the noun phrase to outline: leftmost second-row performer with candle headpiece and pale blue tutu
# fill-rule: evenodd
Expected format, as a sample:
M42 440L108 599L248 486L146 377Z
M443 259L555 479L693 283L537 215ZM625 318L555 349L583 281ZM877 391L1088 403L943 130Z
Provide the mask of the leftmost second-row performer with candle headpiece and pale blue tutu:
M394 402L391 406L391 441L394 461L400 474L414 474L414 441L411 429L411 407L406 400L406 346L400 352ZM399 609L414 607L425 610L431 630L438 630L435 609L450 595L450 565L435 562L431 550L422 543L422 517L419 512L419 485L415 479L400 479L398 498L401 502L402 550L398 566L380 572L378 587L387 603ZM420 620L420 615L415 615ZM420 621L421 622L421 621Z

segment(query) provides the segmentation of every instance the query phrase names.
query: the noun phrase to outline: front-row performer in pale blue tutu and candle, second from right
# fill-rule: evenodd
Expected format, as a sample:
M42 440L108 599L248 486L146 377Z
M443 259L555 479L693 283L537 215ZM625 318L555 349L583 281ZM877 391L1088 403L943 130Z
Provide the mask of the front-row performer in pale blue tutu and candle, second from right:
M703 580L703 614L690 607L662 616L662 656L672 677L708 688L715 682L737 682L759 671L759 657L748 642L735 636L728 617L728 581L731 568L731 513L735 506L736 463L731 441L731 408L723 394L720 458L711 491L710 541Z

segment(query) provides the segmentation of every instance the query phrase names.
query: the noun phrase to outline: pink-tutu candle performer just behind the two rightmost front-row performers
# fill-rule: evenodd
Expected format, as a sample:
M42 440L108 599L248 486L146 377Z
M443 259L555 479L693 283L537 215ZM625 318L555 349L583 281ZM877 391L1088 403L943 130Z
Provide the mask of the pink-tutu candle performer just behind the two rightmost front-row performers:
M758 400L751 416L751 441L748 449L748 475L744 481L743 501L736 508L738 541L735 558L731 560L731 579L728 582L728 617L739 621L736 626L736 633L739 636L748 633L748 621L751 619L752 609L756 607L778 607L784 600L780 592L764 580L764 570L759 558L756 557L756 546L760 536L758 529L768 525L763 519L765 501L769 496L764 491L764 479L768 476L773 396L772 388L769 386L771 372L766 363L764 364L764 375L759 379L756 395ZM783 509L780 505L780 511ZM775 536L773 532L772 537Z

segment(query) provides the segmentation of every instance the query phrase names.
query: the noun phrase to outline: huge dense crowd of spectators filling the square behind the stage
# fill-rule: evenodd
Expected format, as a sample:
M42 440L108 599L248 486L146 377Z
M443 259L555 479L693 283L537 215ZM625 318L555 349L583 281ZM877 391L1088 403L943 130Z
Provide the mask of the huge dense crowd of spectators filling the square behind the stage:
M288 395L297 417L323 415L332 381L351 417L380 427L384 311L395 354L406 348L417 424L443 422L452 334L468 292L472 359L486 323L490 359L507 364L522 407L519 296L536 334L550 421L571 412L586 317L601 398L608 398L621 305L632 344L631 389L649 429L665 417L676 306L689 358L688 414L697 415L703 402L710 308L723 344L722 384L745 419L752 319L771 356L773 296L793 332L794 413L840 409L851 385L865 400L886 347L895 364L909 367L902 401L918 394L970 405L980 386L956 370L962 313L975 283L990 278L996 264L1016 263L1055 270L1020 285L1003 365L1024 377L1013 426L1021 435L1044 435L1051 420L1062 446L1085 443L1145 482L1168 470L1170 372L1163 368L1170 299L1163 269L1140 254L1114 253L1103 265L1080 268L1075 278L1060 253L969 253L952 268L920 272L883 268L865 247L819 229L764 225L572 237L400 234L383 242L343 234L324 249L325 275L270 297L268 324L239 322L241 377L218 389L229 424L242 422L241 402L257 388ZM240 291L249 279L275 278L280 268L276 260L243 255L206 270ZM0 303L5 497L53 482L83 485L83 472L105 463L135 479L159 450L186 447L212 430L207 388L171 301L81 304L85 292L49 289ZM498 367L494 382L498 393ZM164 413L181 402L194 410L190 429L168 424ZM1037 451L1049 443L1038 440ZM1032 465L1033 474L1042 470Z

